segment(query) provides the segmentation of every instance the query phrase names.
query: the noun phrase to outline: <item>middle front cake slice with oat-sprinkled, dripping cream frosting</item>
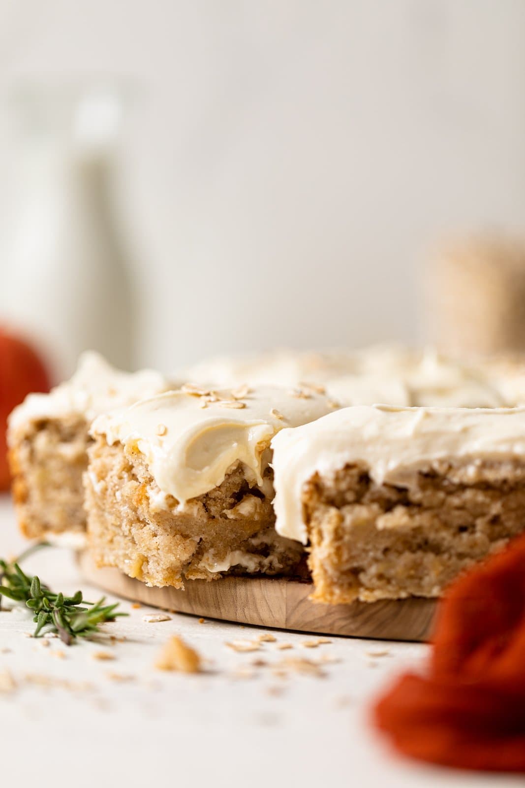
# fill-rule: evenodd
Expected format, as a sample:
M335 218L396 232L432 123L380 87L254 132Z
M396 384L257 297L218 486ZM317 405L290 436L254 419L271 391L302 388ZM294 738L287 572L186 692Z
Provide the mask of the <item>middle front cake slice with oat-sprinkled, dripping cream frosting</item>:
M294 571L304 550L275 533L270 441L333 407L313 389L186 386L100 416L84 477L94 559L176 588Z

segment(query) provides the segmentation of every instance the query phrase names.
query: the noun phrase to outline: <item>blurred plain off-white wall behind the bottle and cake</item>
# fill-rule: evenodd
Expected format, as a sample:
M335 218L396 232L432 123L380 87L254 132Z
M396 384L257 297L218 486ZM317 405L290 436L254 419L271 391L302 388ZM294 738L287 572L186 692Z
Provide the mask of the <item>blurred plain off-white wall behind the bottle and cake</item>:
M434 243L523 229L523 75L523 0L0 0L2 96L21 77L136 85L119 217L137 360L168 370L422 340ZM2 237L8 125L1 102Z

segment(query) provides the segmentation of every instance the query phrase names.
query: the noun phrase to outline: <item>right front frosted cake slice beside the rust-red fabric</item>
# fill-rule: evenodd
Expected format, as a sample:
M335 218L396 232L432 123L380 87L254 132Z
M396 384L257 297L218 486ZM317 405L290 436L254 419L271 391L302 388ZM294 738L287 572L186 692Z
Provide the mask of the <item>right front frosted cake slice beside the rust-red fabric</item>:
M272 448L321 602L437 597L525 530L525 408L348 407Z

